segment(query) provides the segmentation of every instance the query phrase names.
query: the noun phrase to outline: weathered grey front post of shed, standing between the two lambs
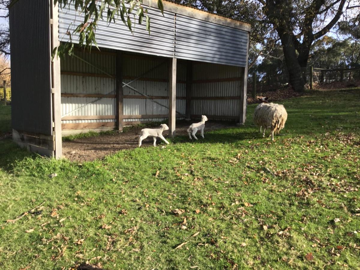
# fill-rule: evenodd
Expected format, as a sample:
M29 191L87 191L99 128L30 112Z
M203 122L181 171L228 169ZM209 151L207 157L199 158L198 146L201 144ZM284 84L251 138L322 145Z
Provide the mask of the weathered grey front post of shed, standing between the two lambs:
M169 76L169 136L175 136L176 121L176 58L170 58Z

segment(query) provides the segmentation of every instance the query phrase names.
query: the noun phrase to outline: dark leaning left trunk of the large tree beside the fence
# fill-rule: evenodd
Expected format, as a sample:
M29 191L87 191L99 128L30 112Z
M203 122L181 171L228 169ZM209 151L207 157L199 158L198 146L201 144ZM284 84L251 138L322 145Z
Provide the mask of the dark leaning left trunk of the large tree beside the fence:
M285 63L289 72L289 82L296 92L304 91L305 81L302 76L301 67L297 59L292 36L280 29L276 29L281 39L284 51Z

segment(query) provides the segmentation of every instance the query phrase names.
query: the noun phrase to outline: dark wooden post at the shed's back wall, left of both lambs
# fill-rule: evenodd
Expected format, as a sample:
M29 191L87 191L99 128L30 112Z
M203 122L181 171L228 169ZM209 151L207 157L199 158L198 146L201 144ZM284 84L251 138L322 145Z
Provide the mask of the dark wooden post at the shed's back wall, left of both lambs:
M123 57L122 52L117 51L116 53L116 127L118 131L122 131L123 125L123 87L122 87L122 65Z

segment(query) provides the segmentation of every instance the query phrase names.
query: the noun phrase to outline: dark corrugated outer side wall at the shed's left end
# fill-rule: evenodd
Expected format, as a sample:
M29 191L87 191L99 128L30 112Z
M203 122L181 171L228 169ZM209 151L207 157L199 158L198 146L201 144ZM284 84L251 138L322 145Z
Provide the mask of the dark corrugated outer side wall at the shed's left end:
M19 0L9 8L12 126L52 135L49 1Z

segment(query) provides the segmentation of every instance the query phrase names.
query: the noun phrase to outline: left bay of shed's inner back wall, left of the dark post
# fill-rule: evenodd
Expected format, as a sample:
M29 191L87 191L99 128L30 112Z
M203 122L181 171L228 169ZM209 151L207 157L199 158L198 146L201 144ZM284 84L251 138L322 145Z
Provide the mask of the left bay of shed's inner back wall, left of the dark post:
M104 75L100 69L115 76L116 54L75 51L75 55L98 68L90 66L76 57L67 56L61 61L62 118L71 116L114 116L116 81L114 78ZM99 99L99 97L107 94L112 95L112 98ZM86 95L99 96L90 97ZM62 123L114 121L114 119L63 120Z

